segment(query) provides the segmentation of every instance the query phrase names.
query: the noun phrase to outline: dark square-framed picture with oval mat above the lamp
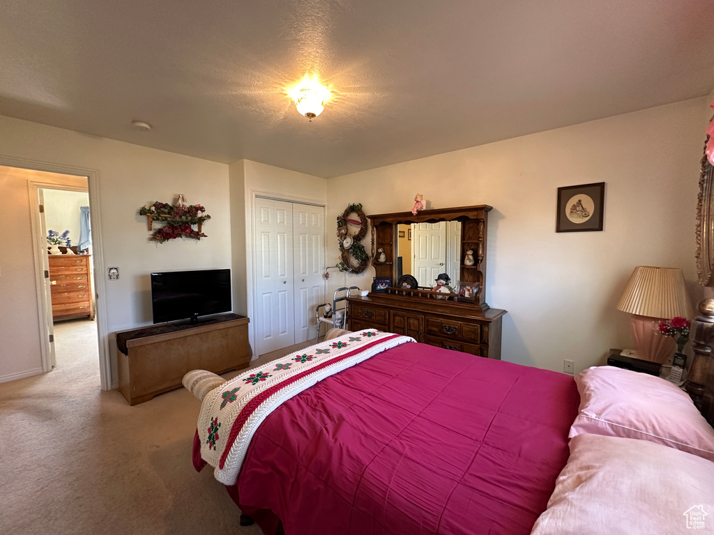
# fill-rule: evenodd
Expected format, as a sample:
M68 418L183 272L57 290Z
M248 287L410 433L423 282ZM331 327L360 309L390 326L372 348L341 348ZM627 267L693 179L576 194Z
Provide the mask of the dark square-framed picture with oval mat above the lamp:
M555 232L576 233L603 230L605 183L570 185L558 188L558 215Z

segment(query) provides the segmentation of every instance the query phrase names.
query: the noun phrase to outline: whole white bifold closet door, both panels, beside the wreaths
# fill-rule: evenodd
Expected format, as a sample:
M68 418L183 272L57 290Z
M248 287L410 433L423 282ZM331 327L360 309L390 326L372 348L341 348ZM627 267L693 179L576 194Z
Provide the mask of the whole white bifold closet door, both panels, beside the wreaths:
M258 355L313 337L324 302L325 214L321 206L256 198L254 211Z

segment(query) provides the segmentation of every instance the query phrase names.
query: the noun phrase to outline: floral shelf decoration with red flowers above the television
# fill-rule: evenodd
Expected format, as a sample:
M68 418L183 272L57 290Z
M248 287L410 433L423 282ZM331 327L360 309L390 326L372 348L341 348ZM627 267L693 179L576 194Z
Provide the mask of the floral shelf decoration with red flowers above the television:
M207 238L203 234L203 221L211 219L206 214L206 208L200 204L186 205L186 198L178 195L176 203L159 203L158 201L149 207L143 206L139 209L139 214L146 215L149 231L153 230L153 223L166 223L162 228L154 230L149 240L164 243L176 238L191 238L200 240ZM193 225L198 225L198 230L193 229Z

